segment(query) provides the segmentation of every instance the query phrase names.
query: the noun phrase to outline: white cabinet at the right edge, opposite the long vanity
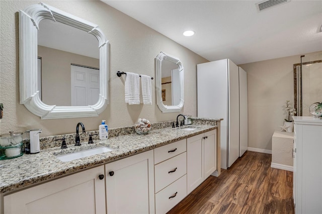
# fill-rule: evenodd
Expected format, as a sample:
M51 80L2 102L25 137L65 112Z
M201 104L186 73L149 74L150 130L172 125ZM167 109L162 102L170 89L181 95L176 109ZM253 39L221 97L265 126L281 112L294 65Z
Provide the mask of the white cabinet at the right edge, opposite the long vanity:
M322 213L322 120L293 118L295 213Z

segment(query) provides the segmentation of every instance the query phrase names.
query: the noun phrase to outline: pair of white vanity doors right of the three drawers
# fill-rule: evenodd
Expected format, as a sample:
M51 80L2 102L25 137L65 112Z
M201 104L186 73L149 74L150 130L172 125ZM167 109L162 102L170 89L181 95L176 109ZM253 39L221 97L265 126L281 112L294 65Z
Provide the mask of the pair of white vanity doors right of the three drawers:
M215 130L187 139L187 194L217 170Z

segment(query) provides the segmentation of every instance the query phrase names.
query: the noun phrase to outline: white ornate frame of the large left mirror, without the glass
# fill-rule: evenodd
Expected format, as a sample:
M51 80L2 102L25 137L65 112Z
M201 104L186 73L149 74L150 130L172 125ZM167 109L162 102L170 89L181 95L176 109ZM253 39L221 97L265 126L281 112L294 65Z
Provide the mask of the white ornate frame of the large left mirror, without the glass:
M76 29L82 33L91 34L90 36L94 36L98 41L99 72L96 78L98 94L94 101L97 101L96 103L78 106L43 102L40 95L41 80L38 75L38 33L41 30L39 24L42 20L57 22L63 24L66 29L71 28L71 30ZM32 5L24 11L19 11L19 46L20 103L24 104L30 112L41 119L58 119L97 117L105 110L109 103L109 41L97 25L43 3ZM77 45L76 48L79 49L79 46ZM61 87L62 84L57 82L56 87ZM48 97L46 98L48 100Z

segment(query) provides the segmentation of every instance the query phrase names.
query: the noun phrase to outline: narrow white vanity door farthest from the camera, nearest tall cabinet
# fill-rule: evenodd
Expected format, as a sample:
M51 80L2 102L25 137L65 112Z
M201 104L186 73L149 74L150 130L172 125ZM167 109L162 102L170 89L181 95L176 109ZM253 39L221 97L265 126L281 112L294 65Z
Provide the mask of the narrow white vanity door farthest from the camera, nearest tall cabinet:
M216 132L204 134L204 180L217 169L216 161Z

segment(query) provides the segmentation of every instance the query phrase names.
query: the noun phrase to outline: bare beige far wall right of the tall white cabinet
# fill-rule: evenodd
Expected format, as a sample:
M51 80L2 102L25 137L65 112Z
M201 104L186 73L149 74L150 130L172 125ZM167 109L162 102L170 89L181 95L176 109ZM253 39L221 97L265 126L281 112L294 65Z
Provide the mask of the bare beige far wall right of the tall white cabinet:
M304 54L317 60L322 52ZM304 61L303 61L304 62ZM248 81L248 146L272 149L272 135L280 130L286 118L286 100L294 106L293 64L300 55L239 65Z

